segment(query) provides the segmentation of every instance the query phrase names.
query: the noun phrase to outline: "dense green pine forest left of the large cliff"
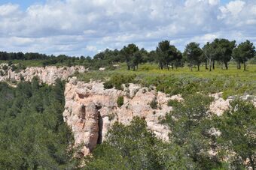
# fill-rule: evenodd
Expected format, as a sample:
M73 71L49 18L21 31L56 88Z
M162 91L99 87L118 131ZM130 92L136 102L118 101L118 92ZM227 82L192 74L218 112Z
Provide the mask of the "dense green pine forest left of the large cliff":
M64 124L63 82L0 83L0 169L74 168L73 136Z

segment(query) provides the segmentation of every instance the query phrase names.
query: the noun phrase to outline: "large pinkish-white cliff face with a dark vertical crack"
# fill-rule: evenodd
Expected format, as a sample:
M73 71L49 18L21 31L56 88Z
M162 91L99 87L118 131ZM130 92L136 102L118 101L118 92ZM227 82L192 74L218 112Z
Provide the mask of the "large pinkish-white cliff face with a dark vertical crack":
M167 106L169 97L161 92L130 84L123 91L104 89L102 82L77 82L74 78L66 83L64 121L72 127L75 144L84 143L83 152L89 154L97 143L105 139L114 122L130 124L135 116L147 121L148 129L163 140L168 140L168 127L158 118L172 110ZM123 106L117 106L117 98L123 96ZM157 100L157 109L150 103Z

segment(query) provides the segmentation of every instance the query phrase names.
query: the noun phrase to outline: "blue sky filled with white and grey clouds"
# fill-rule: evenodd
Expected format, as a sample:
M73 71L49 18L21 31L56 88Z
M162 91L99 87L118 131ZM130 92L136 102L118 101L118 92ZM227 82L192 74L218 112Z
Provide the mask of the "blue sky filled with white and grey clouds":
M129 43L181 51L215 38L256 44L256 0L0 0L0 51L93 56Z

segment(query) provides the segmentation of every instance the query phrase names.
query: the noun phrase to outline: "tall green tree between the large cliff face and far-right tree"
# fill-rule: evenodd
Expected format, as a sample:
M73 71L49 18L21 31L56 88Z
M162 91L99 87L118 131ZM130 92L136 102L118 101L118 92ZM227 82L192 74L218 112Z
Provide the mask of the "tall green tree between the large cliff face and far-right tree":
M221 168L221 162L209 155L210 143L214 138L209 135L209 103L212 99L201 94L187 95L181 103L173 106L163 123L168 124L172 133L170 140L175 142L200 169Z

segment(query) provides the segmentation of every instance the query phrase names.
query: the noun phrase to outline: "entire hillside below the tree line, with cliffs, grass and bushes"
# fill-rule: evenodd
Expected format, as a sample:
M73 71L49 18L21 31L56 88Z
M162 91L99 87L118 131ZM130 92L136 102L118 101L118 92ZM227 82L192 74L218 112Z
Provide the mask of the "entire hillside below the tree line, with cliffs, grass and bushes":
M2 169L78 169L81 164L83 169L254 165L249 160L254 157L256 132L254 64L248 64L247 71L233 64L228 70L216 65L212 72L188 67L159 70L157 64L140 64L133 71L122 63L102 71L78 66L3 67L0 132L10 142L0 145ZM233 129L236 126L239 129ZM25 139L16 143L14 138ZM245 145L251 148L246 150ZM21 160L14 163L8 153L20 155ZM88 154L93 157L85 157Z

